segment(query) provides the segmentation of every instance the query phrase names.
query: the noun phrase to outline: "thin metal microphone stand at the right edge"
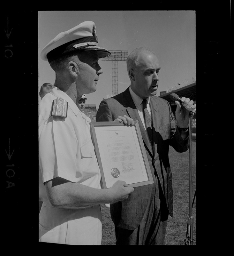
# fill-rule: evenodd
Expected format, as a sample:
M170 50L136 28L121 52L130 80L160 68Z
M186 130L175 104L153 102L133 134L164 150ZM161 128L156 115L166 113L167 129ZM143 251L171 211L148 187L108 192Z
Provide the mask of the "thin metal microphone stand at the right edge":
M193 117L193 114L194 113L192 111L189 112L189 216L188 216L187 233L186 233L186 239L185 239L186 245L193 245L193 243L196 243L196 240L193 239L193 216L192 216L192 206L193 206L193 202L192 202L192 117Z

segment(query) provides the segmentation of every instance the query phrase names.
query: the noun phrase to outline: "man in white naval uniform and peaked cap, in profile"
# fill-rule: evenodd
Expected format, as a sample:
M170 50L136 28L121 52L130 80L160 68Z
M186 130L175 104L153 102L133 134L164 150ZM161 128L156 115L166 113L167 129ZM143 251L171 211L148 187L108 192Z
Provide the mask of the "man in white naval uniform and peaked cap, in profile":
M56 78L39 103L40 242L100 245L100 204L126 199L134 190L120 180L101 189L89 122L76 104L96 91L103 73L98 60L109 55L98 46L93 21L58 34L41 52ZM134 124L127 116L115 121Z

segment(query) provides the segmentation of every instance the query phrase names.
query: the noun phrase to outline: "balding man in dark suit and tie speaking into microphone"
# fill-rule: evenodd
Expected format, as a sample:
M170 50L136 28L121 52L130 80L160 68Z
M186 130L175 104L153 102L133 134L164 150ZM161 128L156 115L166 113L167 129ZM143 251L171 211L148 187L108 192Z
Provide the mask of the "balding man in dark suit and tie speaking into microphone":
M189 148L189 112L196 105L182 97L176 101L176 119L168 101L156 97L159 61L151 49L140 47L127 58L130 87L100 103L96 120L114 121L129 116L139 121L154 184L136 187L121 202L110 204L117 245L162 245L167 219L173 216L172 174L169 146L177 152Z

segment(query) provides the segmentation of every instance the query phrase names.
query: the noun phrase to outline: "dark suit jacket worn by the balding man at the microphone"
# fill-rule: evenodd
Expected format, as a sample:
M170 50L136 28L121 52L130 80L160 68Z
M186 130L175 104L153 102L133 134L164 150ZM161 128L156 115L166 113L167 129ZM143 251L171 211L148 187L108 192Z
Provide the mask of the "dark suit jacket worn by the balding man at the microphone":
M97 111L96 121L114 121L118 116L129 116L139 121L149 166L154 177L161 185L169 214L173 216L172 174L169 164L169 146L177 152L189 148L189 139L183 140L177 129L176 119L167 100L156 96L150 97L151 117L153 121L153 147L141 122L136 106L129 92L129 87L112 98L103 100ZM156 176L156 177L155 177ZM117 227L135 229L145 213L149 200L154 197L154 184L134 188L129 197L111 204L111 218Z

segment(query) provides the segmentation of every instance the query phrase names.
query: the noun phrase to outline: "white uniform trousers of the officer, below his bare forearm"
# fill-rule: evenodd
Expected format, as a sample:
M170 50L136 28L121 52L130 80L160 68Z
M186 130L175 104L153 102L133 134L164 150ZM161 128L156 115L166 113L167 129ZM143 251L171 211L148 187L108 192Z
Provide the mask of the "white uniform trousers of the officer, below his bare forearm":
M39 242L100 245L101 241L100 205L77 210L42 204L39 214Z

